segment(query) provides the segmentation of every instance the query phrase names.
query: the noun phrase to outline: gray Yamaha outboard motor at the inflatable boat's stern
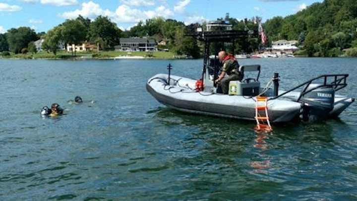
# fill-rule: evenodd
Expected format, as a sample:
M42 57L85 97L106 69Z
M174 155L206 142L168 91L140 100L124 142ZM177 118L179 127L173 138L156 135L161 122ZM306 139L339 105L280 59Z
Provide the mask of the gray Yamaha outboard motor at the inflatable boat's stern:
M310 84L306 91L322 86L323 84ZM316 88L300 99L302 106L302 119L304 121L326 118L332 111L335 102L335 90L332 87Z

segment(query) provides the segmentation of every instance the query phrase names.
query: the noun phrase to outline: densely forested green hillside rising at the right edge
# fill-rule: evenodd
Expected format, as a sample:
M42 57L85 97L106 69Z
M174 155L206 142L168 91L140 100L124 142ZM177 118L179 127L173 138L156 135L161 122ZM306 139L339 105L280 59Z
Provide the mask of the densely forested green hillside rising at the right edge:
M269 19L264 27L270 42L298 40L300 54L334 57L345 49L348 56L357 56L356 0L313 3L294 15Z

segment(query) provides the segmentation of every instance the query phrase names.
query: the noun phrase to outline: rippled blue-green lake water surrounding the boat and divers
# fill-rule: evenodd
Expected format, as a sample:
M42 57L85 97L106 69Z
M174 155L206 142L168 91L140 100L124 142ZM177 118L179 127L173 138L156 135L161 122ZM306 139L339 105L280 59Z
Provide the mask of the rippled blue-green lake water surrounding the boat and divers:
M357 59L258 59L288 89L350 73ZM339 120L273 126L176 112L146 92L166 72L199 78L201 60L0 60L0 200L356 200L357 104ZM95 100L68 104L80 95ZM42 118L59 103L64 116Z

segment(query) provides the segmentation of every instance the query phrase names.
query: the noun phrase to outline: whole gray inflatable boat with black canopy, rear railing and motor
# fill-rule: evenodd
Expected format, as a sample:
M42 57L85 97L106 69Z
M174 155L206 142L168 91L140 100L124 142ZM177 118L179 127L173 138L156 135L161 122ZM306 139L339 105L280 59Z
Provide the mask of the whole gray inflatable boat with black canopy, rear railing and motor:
M348 74L321 75L290 90L279 90L279 73L274 73L266 85L261 85L260 65L239 67L237 70L241 73L257 72L257 76L231 81L229 94L222 94L214 82L222 64L217 56L210 56L210 43L234 42L248 34L248 31L200 31L192 34L205 44L202 77L195 80L171 75L169 65L168 74L157 74L148 80L147 91L160 103L182 112L254 120L257 123L259 119L278 123L334 118L355 101L354 98L335 94L347 86ZM262 97L265 106L259 107L257 103ZM266 117L258 116L259 109L265 110Z

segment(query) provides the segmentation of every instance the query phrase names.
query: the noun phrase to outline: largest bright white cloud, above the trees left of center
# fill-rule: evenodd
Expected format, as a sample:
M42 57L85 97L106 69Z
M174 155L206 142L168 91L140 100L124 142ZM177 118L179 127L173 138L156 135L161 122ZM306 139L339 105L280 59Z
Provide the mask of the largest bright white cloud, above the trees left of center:
M94 19L99 15L103 15L108 16L116 23L137 23L153 17L168 18L174 16L174 12L163 5L154 10L140 10L131 8L125 4L119 5L115 11L111 11L109 9L101 8L99 4L93 1L89 1L87 3L82 3L82 7L80 9L60 14L61 17L66 19L74 19L78 17L78 15L91 19Z

